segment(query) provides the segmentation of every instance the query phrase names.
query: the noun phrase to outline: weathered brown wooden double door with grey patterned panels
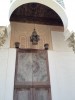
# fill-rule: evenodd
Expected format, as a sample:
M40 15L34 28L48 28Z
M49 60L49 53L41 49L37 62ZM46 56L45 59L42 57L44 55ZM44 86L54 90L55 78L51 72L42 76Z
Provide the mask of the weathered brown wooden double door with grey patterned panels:
M17 50L14 100L51 100L46 50Z

